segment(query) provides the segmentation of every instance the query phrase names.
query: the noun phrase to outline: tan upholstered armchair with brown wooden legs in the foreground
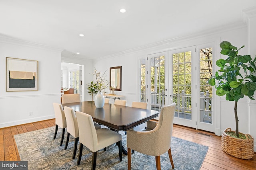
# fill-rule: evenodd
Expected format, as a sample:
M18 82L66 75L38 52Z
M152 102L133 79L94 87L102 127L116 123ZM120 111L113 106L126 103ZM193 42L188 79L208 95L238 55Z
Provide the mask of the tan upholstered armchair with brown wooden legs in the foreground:
M127 131L128 170L131 169L131 150L156 156L156 169L161 169L160 155L168 151L172 169L174 164L171 153L172 127L176 103L161 107L158 123L147 122L144 131ZM150 125L151 124L151 125Z

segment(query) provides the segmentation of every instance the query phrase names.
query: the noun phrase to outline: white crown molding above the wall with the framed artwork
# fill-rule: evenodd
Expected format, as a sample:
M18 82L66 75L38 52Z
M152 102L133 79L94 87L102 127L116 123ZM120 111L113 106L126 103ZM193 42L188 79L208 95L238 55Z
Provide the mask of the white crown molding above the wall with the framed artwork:
M12 44L12 45L21 45L24 47L32 47L32 48L36 48L36 49L44 49L44 50L54 51L54 52L58 52L58 53L63 51L63 49L60 49L60 48L50 47L47 45L32 43L32 42L28 42L28 41L23 41L23 40L15 39L15 38L8 37L8 36L2 35L2 34L0 34L0 42Z

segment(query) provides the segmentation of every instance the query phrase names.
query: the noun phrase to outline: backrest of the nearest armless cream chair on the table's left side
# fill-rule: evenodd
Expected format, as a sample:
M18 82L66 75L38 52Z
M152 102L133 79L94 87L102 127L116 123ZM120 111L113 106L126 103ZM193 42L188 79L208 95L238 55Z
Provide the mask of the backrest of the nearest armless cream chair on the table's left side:
M76 111L76 118L79 129L79 141L88 149L94 150L98 143L96 129L91 115Z

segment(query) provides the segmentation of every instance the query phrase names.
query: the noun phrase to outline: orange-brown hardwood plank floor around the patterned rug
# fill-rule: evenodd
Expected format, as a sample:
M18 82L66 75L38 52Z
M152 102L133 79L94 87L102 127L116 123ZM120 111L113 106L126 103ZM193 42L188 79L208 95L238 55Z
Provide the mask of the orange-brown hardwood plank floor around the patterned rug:
M43 129L55 125L55 119L28 123L14 127L0 129L0 161L20 160L14 135ZM208 146L208 152L202 164L201 170L255 170L256 154L250 160L238 159L230 156L221 149L221 137L212 133L174 125L172 135L187 141ZM175 166L175 164L174 164Z

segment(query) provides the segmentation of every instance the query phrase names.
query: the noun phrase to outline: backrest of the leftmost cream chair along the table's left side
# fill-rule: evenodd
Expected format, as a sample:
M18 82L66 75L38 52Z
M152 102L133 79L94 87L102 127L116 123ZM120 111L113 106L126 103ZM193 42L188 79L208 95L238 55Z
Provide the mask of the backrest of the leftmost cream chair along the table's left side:
M55 113L55 123L61 128L66 128L66 117L61 104L53 103L54 113Z

